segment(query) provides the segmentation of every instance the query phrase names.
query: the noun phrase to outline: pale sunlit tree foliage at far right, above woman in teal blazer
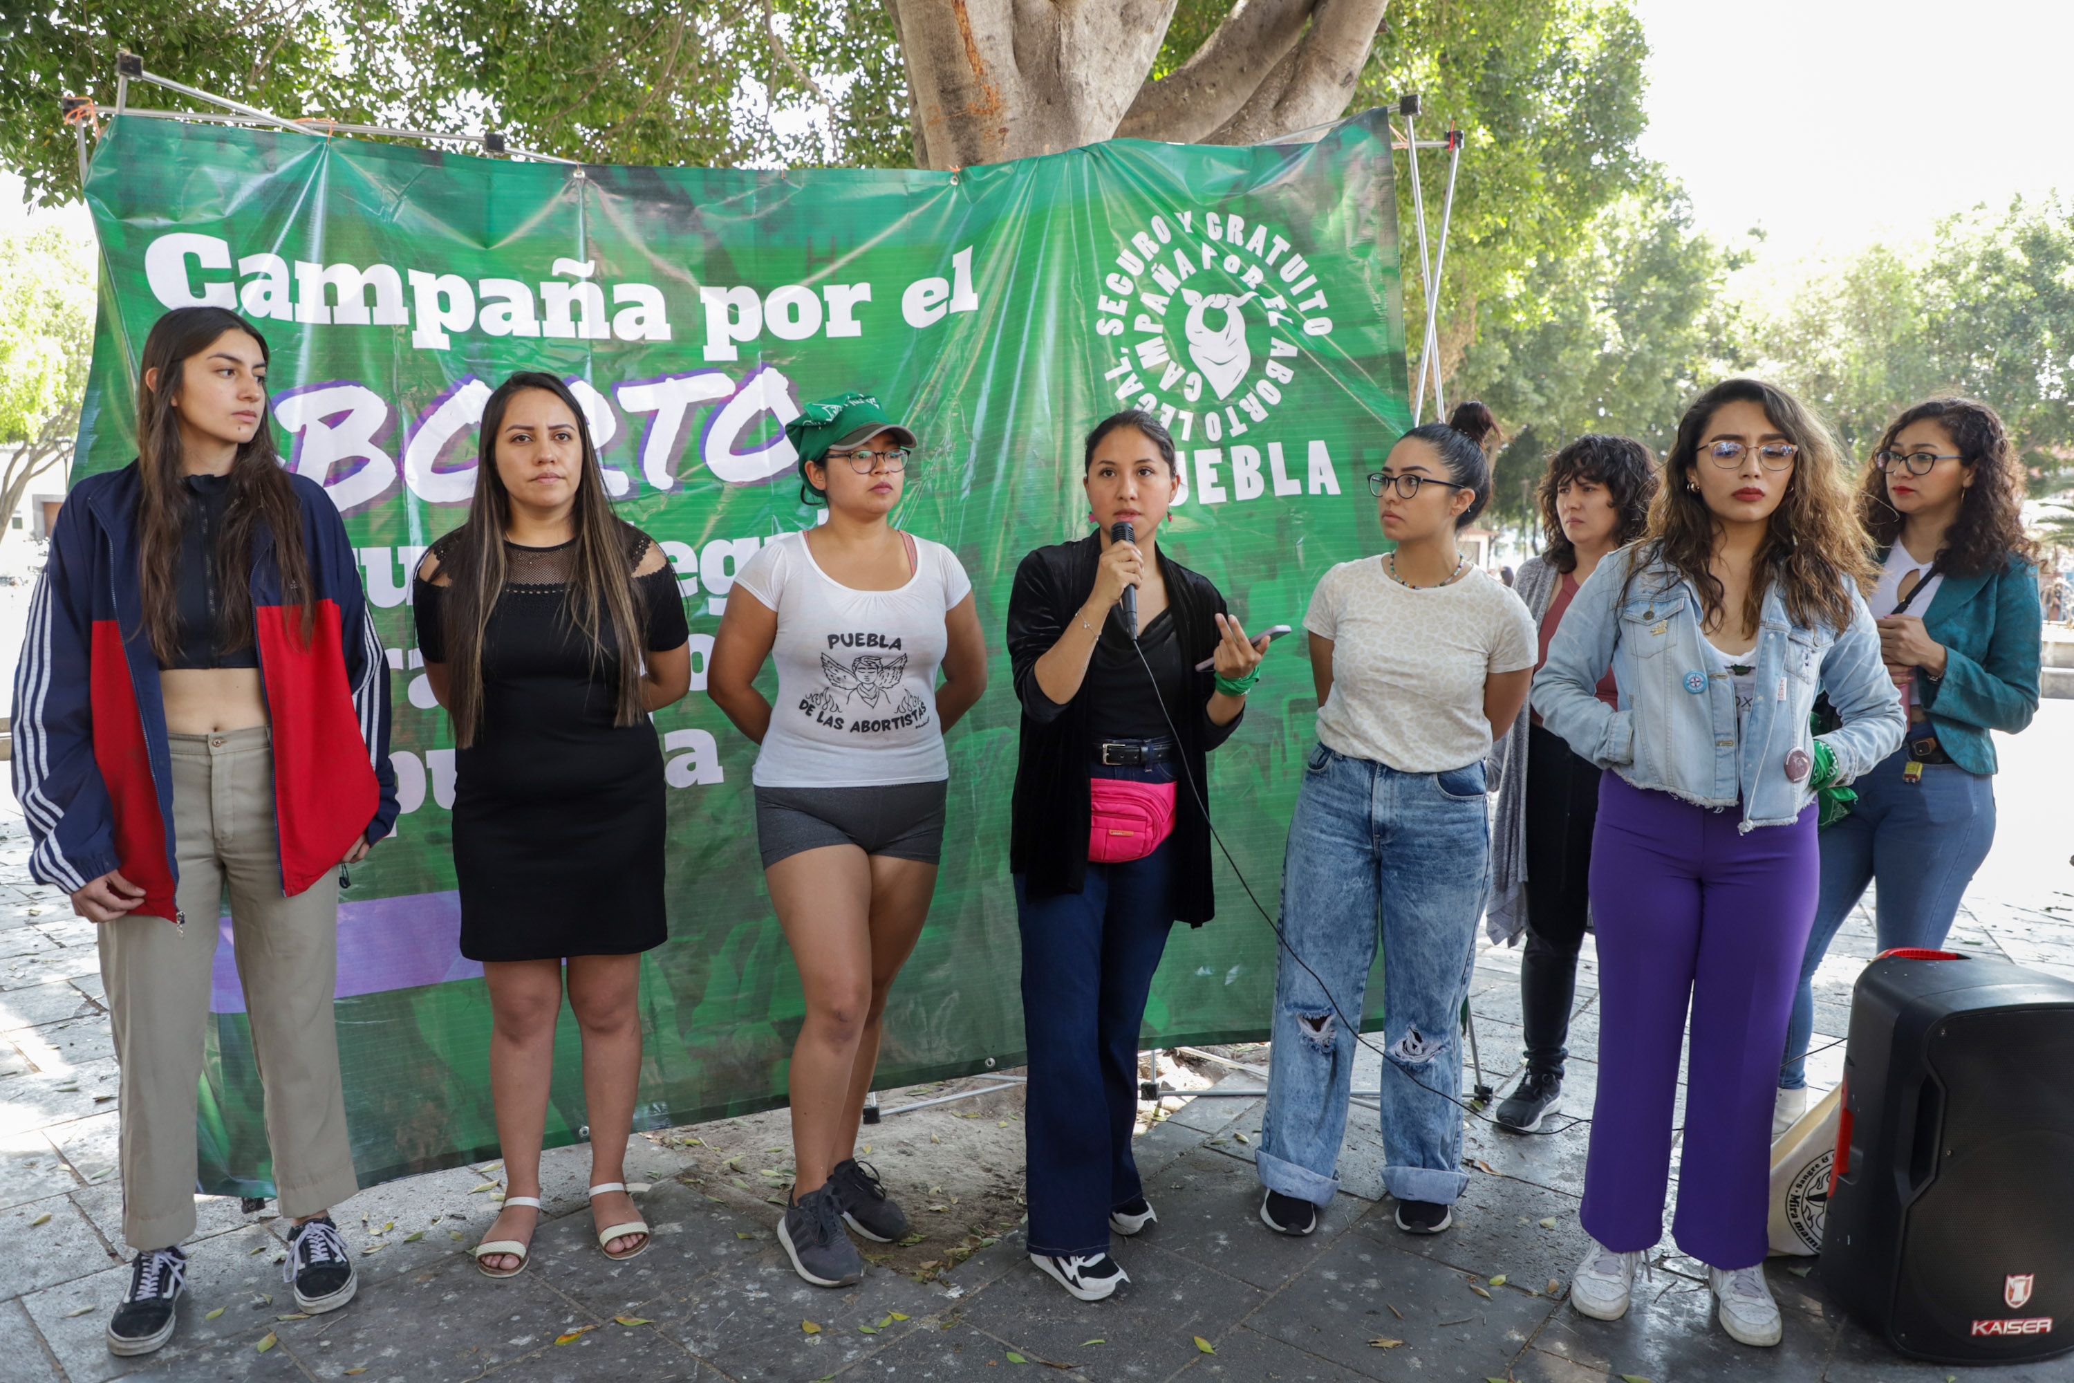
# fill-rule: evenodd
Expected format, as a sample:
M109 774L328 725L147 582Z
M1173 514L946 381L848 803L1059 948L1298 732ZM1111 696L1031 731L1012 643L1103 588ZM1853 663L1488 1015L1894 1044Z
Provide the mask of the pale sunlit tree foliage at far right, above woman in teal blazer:
M1759 369L1819 402L1865 456L1912 402L1995 406L2033 491L2074 481L2074 201L1974 207L1916 245L1798 265L1753 294Z

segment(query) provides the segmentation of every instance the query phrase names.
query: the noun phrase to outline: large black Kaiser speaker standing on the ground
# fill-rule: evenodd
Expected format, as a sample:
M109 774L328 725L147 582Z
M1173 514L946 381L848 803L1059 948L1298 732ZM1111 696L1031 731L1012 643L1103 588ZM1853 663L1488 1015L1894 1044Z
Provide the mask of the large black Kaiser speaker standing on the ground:
M1823 1286L1902 1354L2074 1348L2074 983L1887 952L1850 1004Z

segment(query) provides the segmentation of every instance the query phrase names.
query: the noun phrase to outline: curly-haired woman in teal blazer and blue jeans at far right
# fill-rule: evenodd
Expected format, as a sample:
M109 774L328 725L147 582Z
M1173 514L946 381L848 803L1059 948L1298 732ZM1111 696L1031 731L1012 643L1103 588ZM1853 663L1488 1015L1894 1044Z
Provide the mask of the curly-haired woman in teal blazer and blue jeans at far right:
M2024 471L2001 419L1933 398L1879 440L1858 489L1877 545L1871 610L1902 690L1908 736L1856 782L1850 815L1821 831L1821 898L1786 1031L1773 1138L1806 1109L1815 970L1879 881L1879 950L1939 948L1995 844L1993 730L2039 709L2037 556L2024 537Z

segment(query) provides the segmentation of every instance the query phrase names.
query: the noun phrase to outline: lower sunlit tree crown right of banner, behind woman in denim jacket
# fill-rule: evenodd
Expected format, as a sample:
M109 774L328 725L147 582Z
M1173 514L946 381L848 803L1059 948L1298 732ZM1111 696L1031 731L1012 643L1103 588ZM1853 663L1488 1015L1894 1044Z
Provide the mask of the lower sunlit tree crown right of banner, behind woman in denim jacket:
M1512 431L1491 512L1535 523L1543 458L1587 431L1638 438L1659 454L1701 388L1744 365L1723 297L1742 265L1692 226L1676 187L1651 185L1585 228L1582 245L1537 257L1520 292L1483 317L1450 398L1477 396Z

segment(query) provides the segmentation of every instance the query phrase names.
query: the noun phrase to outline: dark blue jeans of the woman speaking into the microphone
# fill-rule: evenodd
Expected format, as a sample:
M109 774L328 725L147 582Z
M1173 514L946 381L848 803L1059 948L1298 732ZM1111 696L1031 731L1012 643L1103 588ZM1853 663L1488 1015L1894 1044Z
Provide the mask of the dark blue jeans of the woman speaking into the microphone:
M1097 771L1166 782L1166 767ZM1031 1252L1108 1252L1110 1211L1143 1194L1130 1157L1139 1024L1174 925L1174 854L1168 836L1143 860L1089 865L1078 894L1031 898L1016 875Z

